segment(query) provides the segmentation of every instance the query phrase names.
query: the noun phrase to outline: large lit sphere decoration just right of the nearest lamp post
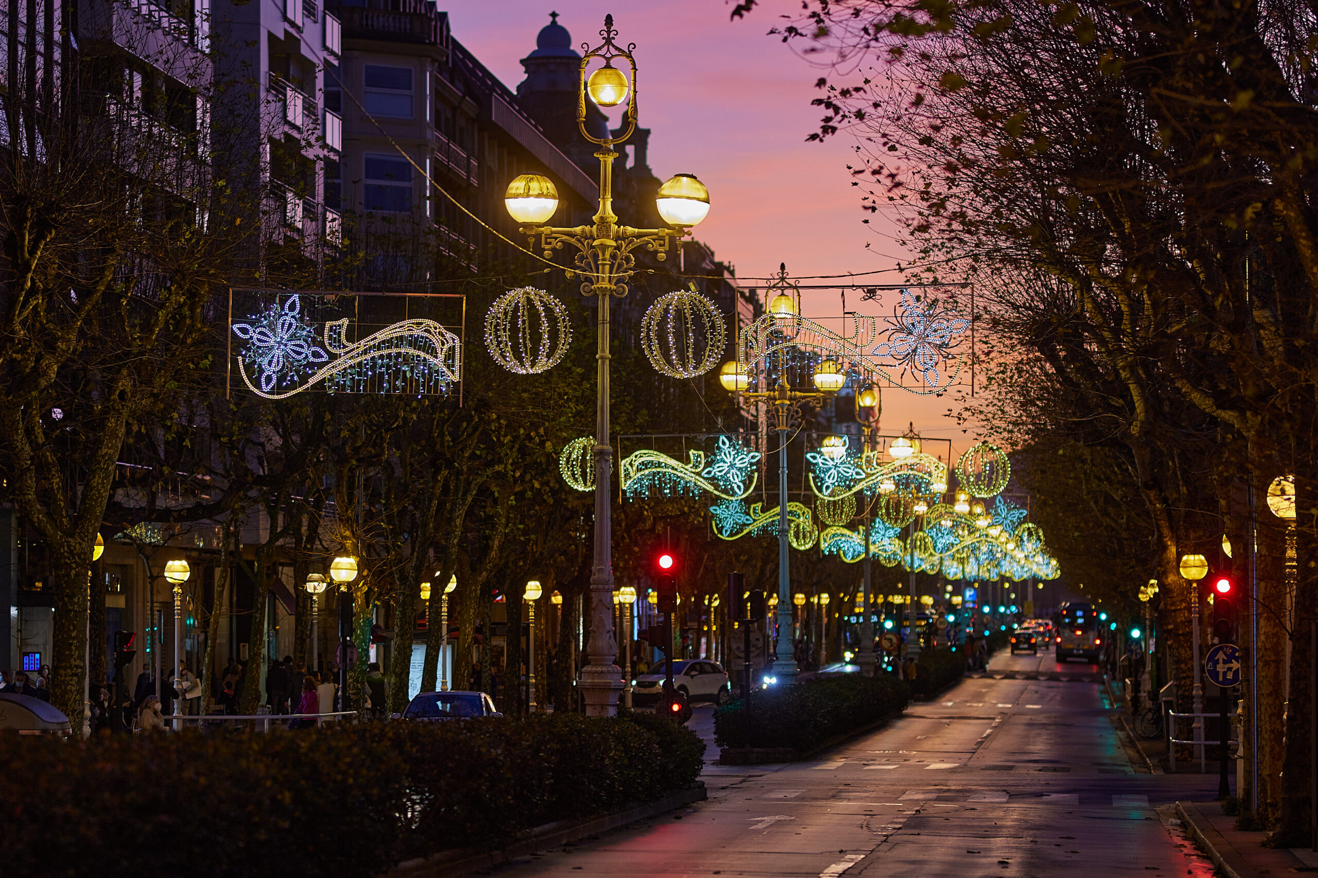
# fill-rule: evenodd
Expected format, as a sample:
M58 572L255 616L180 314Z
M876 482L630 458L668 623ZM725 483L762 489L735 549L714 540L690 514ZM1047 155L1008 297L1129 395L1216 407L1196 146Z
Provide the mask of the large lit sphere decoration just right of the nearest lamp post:
M670 378L696 378L717 366L726 337L724 316L695 290L660 296L641 320L641 346Z

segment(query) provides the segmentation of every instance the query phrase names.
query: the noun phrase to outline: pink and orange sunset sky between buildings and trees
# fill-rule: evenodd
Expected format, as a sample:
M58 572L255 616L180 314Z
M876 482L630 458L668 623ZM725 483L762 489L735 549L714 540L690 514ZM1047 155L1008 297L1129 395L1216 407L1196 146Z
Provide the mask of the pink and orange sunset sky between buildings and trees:
M739 278L766 276L779 262L793 276L891 270L905 262L909 257L890 237L890 225L882 219L862 222L870 215L861 212L859 190L846 170L853 138L805 142L821 115L811 100L822 74L778 37L766 36L779 16L797 12L800 4L762 0L738 21L729 20L730 9L717 0L468 0L449 7L448 14L453 36L515 88L525 75L518 62L535 47L551 11L560 13L559 24L577 49L585 41L598 43L604 16L613 13L618 41L637 43L639 124L652 132L650 167L660 179L688 172L709 187L712 209L696 237L735 266ZM871 282L898 283L900 275L888 271L871 275ZM895 299L895 292L884 294L883 312L892 313ZM849 294L846 305L882 313L858 295ZM811 291L804 311L837 317L840 294ZM960 453L973 440L946 416L950 404L948 398L884 388L882 429L904 432L913 421L921 434L952 438Z

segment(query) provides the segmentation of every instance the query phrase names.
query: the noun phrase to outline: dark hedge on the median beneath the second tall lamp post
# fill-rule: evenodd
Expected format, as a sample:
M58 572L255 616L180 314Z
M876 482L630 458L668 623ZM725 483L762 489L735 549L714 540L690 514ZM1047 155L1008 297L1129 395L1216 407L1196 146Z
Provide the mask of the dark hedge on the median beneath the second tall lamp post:
M721 748L805 750L870 723L896 716L911 688L895 677L847 675L783 686L751 696L751 720L741 700L714 710L714 742Z

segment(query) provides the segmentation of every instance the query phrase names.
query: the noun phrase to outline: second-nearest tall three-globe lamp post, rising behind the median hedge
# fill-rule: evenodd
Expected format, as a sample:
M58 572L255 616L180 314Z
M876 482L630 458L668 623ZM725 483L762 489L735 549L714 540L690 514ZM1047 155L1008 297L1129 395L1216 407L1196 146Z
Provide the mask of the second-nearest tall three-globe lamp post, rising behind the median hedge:
M770 283L770 291L776 290L778 295L768 303L768 312L783 329L784 334L791 333L792 324L800 317L800 290L787 279L787 266L780 265L778 276ZM795 296L792 294L796 294ZM832 361L822 359L815 367L812 375L812 390L800 390L792 386L789 369L786 363L786 354L779 362L778 383L772 388L749 391L750 374L739 362L725 363L718 375L718 382L724 390L731 394L741 394L745 399L764 401L774 407L774 429L778 430L778 624L779 629L791 629L792 600L791 590L791 561L788 555L788 517L787 517L787 430L791 426L792 416L801 408L820 404L830 399L846 384L846 373ZM766 371L766 375L768 373ZM767 379L766 379L767 383ZM778 638L778 654L774 661L774 677L780 683L795 683L800 669L796 666L796 657L792 645L782 637Z

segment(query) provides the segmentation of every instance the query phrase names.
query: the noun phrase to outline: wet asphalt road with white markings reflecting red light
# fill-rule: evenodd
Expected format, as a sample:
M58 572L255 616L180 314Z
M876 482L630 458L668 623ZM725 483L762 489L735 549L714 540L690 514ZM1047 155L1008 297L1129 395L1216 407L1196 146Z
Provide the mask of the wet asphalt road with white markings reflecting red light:
M999 656L812 761L706 765L706 802L500 874L1207 878L1157 807L1211 799L1217 778L1148 774L1110 713L1094 666ZM691 725L708 738L712 710Z

